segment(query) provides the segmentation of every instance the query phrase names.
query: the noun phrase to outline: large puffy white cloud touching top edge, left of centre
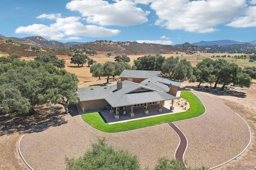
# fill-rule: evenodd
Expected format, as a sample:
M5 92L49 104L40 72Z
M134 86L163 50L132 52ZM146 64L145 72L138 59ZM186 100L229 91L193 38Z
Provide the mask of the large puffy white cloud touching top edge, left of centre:
M150 0L115 0L109 3L104 0L72 0L66 4L71 11L78 11L86 21L100 26L131 26L148 22L149 11L143 11L136 4L148 3Z

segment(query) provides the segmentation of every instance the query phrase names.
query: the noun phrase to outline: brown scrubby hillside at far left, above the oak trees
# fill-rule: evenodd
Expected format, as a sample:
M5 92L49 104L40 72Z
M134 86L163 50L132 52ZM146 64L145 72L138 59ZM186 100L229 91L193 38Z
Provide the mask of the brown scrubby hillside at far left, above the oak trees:
M60 50L60 49L52 49L52 48L46 48L46 47L39 47L37 45L34 45L34 43L30 42L32 40L28 39L26 40L29 43L32 43L32 45L21 43L18 38L5 38L4 36L0 37L0 53L18 53L21 56L24 57L30 57L30 56L37 56L42 54L56 54L56 55L68 55L69 52L66 50ZM24 41L24 40L22 40Z

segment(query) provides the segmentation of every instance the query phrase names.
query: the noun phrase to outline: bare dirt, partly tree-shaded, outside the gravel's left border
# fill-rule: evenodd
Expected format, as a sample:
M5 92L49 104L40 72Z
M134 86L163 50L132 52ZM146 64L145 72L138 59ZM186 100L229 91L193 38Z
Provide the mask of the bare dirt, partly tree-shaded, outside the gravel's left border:
M35 108L34 115L16 115L0 113L0 169L2 170L25 170L29 169L18 152L18 142L22 135L30 128L36 127L34 132L46 130L49 127L60 126L64 123L63 118L49 115L49 108L39 106ZM53 106L52 112L60 111L59 106Z

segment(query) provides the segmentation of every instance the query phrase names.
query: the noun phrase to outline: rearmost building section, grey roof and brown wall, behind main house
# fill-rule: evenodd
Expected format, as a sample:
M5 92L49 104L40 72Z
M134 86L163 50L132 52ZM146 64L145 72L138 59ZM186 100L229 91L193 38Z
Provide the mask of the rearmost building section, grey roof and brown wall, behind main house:
M141 83L145 79L162 75L161 71L149 71L149 70L124 70L120 75L121 81L128 80L135 83Z

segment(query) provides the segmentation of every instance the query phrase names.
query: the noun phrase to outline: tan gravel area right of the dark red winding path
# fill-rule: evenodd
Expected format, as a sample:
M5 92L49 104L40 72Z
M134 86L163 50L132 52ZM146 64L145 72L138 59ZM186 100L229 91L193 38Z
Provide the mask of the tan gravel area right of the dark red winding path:
M246 123L232 110L202 93L195 93L206 113L196 119L174 123L185 134L188 166L214 167L240 154L250 141Z

